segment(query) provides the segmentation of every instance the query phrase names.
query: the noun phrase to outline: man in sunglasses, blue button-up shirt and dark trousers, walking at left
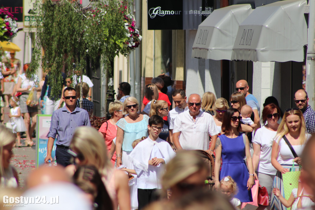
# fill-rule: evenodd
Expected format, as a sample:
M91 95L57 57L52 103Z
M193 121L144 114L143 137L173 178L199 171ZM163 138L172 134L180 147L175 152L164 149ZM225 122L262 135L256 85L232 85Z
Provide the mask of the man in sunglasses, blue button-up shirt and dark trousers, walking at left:
M63 100L66 106L54 111L51 116L51 123L47 143L47 157L45 163L53 162L51 151L54 140L56 141L56 161L58 165L70 165L72 155L68 152L72 135L79 126L91 126L89 114L86 110L77 107L77 92L72 87L63 91ZM58 136L57 136L58 135Z

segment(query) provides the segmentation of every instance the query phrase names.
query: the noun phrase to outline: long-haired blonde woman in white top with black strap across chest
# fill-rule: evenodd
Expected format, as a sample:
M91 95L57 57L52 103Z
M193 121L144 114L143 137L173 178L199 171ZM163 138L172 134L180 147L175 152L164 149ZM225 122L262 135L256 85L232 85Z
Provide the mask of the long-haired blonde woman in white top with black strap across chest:
M277 169L273 188L280 189L282 195L284 195L282 174L289 172L293 163L297 165L294 165L291 171L299 171L299 165L301 164L300 157L304 145L307 139L311 137L311 135L307 134L305 131L306 128L302 112L298 108L287 109L278 127L271 152L271 164ZM298 157L294 157L289 146L285 143L284 136L288 139ZM275 206L279 206L280 209L285 209L285 206L281 204L278 197L273 194L271 201L271 209Z

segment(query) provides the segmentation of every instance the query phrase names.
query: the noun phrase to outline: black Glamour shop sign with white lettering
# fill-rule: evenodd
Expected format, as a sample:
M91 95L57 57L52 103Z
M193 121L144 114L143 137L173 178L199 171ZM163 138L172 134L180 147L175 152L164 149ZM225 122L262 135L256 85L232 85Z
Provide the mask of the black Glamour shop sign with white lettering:
M197 29L213 11L213 0L147 0L149 30Z

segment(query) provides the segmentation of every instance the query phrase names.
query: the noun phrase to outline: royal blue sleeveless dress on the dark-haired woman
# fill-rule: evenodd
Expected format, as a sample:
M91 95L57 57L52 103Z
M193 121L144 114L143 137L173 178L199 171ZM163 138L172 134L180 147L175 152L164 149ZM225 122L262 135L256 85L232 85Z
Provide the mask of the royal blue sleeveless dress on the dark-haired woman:
M244 162L245 145L242 134L240 133L236 138L228 138L222 134L220 140L222 144L220 180L226 176L231 176L238 186L238 194L234 197L241 202L252 202L252 191L247 190L246 187L249 173Z

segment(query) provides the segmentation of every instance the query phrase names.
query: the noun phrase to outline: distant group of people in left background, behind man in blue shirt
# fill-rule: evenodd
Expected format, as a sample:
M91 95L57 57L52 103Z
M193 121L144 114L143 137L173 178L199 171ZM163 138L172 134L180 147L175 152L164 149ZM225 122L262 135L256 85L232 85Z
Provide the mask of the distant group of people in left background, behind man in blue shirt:
M59 108L65 106L63 103L63 90L66 87L73 87L77 90L77 106L80 103L80 88L82 86L83 97L83 109L89 112L89 115L93 113L94 104L91 101L91 87L93 83L87 76L83 76L83 82L80 82L80 78L73 79L71 76L66 76L65 73L61 73L62 83L60 86L60 93L58 96L51 95L52 85L54 81L49 81L49 73L43 75L40 80L37 75L28 78L26 72L29 64L26 63L21 67L21 61L15 58L15 51L10 52L10 58L3 59L3 67L0 72L1 80L1 120L4 120L4 107L10 108L9 122L7 127L14 130L17 135L17 143L15 146L33 146L34 142L32 138L35 137L36 128L36 116L37 114L53 114ZM77 75L74 75L77 78ZM33 96L34 95L34 96ZM31 96L33 99L30 100ZM21 119L24 121L22 125ZM25 145L20 141L21 132L25 133Z

